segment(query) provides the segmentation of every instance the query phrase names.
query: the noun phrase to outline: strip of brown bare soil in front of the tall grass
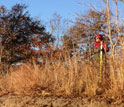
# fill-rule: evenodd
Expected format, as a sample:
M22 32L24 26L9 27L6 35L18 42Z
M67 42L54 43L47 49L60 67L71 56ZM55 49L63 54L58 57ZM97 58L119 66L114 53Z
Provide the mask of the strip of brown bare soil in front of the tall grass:
M3 95L0 97L0 107L124 107L124 104L110 104L81 97Z

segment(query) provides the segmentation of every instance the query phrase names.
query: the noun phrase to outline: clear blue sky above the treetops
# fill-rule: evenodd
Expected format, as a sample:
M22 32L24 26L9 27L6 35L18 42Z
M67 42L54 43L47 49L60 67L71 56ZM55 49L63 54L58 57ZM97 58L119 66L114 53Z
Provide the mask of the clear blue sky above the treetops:
M92 1L83 0L83 3ZM95 1L98 2L99 0ZM73 19L75 13L87 9L86 6L78 5L79 2L82 2L82 0L0 0L0 5L10 8L16 3L24 3L28 5L27 9L33 17L38 16L47 21L55 12L65 18Z

